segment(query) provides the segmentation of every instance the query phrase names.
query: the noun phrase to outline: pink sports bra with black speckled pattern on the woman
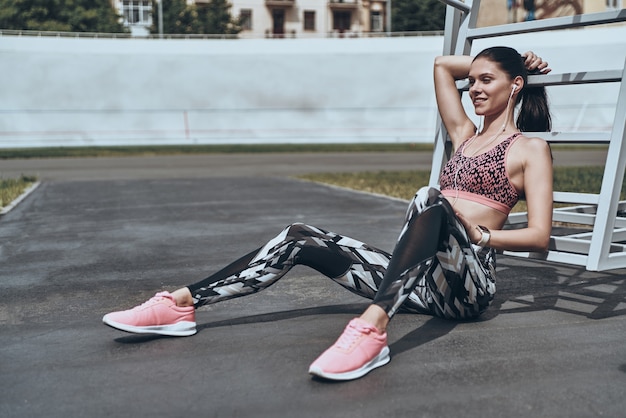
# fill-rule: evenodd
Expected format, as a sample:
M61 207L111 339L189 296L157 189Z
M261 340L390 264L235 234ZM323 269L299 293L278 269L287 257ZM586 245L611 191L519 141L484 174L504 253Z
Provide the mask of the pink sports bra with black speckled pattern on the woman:
M517 132L473 157L463 155L469 139L463 142L441 171L441 194L481 203L508 215L520 196L506 171L506 157L520 135Z

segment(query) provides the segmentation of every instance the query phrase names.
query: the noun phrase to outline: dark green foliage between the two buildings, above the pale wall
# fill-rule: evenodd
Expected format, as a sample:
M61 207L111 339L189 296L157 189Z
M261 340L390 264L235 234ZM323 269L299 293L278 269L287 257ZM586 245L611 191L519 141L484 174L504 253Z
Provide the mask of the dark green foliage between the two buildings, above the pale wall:
M238 20L230 15L227 0L187 5L185 0L162 0L163 33L165 34L237 34L241 31ZM159 7L152 5L151 33L159 33Z

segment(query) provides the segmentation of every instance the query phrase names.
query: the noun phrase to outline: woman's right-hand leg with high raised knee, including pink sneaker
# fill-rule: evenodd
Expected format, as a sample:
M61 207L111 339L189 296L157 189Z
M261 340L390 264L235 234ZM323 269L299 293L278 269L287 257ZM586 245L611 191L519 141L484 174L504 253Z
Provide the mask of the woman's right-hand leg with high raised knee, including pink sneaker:
M491 259L481 264L439 191L420 189L372 305L348 324L309 372L348 380L389 362L385 328L400 307L447 318L480 314L493 298L494 272Z

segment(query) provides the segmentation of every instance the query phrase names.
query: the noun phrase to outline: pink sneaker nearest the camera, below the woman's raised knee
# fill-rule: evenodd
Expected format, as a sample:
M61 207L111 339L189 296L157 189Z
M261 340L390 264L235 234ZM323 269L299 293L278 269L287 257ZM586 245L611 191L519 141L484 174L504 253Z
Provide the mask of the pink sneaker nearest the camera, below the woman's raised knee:
M352 380L389 363L387 333L354 318L339 339L309 367L309 373L331 380Z

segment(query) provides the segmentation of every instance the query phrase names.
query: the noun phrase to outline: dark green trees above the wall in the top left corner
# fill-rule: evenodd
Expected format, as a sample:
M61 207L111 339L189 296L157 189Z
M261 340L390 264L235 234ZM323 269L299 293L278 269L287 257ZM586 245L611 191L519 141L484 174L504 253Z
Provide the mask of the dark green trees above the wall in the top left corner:
M126 32L109 0L0 0L0 28Z

